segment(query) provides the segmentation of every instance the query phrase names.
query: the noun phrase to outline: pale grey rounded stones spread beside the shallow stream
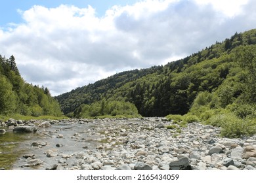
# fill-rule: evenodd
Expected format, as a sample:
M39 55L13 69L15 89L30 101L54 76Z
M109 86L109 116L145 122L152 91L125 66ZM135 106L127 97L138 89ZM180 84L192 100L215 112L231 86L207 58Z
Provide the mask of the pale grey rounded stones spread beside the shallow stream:
M70 120L61 122L71 123ZM221 138L219 127L197 123L182 127L181 133L177 133L175 129L166 128L171 122L165 118L72 120L72 123L79 123L87 135L85 138L74 131L68 137L70 141L81 143L80 151L63 152L65 144L53 144L48 139L39 148L47 158L53 158L53 163L45 164L37 159L37 154L32 154L22 160L24 167L83 170L256 169L256 135L240 139ZM93 125L88 127L86 124ZM51 125L54 123L37 124L37 133L49 134L42 129L51 128ZM65 135L56 134L53 138L65 138ZM85 141L91 141L96 148L83 146ZM45 149L50 145L50 150Z

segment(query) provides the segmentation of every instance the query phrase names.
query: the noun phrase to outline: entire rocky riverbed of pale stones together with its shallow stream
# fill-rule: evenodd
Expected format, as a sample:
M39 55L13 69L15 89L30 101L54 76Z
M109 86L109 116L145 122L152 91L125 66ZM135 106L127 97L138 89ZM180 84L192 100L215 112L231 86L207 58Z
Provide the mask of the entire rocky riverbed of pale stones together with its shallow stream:
M22 137L12 142L19 154L10 169L256 169L256 135L221 138L218 127L197 123L177 133L170 124L165 118L8 120L0 139ZM0 156L9 153L1 148L6 144L0 143Z

